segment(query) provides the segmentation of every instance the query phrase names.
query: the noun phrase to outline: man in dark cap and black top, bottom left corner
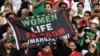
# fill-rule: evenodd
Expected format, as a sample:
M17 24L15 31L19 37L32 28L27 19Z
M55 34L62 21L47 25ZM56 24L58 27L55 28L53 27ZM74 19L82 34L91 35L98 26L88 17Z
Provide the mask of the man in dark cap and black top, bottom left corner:
M13 48L11 37L4 40L4 47L0 49L0 56L20 56L17 49Z

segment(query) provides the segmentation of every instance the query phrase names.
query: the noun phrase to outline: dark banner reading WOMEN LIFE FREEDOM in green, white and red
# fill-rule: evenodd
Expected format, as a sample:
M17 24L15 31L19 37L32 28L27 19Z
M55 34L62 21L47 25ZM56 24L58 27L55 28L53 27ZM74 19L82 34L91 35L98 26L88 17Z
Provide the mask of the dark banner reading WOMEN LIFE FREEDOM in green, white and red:
M44 42L55 44L57 38L67 39L74 33L64 10L9 21L16 32L18 42L27 39L30 46L39 46Z

